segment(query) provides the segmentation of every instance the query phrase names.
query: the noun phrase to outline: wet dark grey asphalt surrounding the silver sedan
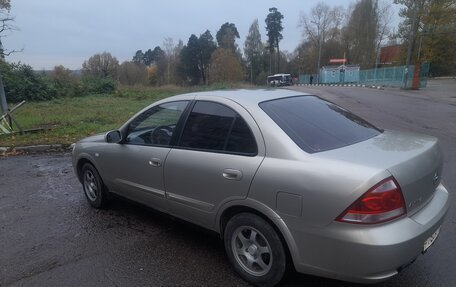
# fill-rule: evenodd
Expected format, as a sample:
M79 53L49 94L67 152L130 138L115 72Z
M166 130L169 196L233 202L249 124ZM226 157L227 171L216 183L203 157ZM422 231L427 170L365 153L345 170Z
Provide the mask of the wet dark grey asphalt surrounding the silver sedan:
M437 136L456 190L456 82L422 91L299 87L396 130ZM409 268L373 286L454 286L455 196L441 235ZM347 259L349 263L349 259ZM281 286L359 286L290 273ZM0 286L248 286L216 234L140 205L89 207L69 154L0 159Z

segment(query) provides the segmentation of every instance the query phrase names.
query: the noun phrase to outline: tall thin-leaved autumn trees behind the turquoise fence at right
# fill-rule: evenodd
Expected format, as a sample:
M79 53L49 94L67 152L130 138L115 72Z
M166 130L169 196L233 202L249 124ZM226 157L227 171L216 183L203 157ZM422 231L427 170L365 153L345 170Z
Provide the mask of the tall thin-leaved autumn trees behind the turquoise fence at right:
M392 4L400 4L398 27L392 25ZM400 45L398 64L431 63L431 76L456 74L455 0L359 0L344 10L323 2L300 18L303 42L295 55L303 73L317 73L331 58L345 55L362 69L380 66L382 46ZM409 49L409 43L410 45Z

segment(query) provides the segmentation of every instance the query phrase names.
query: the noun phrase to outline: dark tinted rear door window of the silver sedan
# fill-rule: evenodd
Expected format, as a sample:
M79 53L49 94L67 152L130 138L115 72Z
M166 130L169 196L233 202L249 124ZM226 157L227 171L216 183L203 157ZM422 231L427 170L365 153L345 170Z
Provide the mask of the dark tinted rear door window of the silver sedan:
M255 138L244 119L232 109L198 101L184 127L179 146L209 151L256 154Z

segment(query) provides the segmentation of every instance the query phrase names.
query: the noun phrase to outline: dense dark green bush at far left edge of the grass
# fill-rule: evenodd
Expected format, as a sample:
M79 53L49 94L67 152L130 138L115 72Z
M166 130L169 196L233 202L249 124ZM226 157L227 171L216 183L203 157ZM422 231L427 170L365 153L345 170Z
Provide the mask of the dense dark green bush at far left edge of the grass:
M49 85L44 75L29 65L0 61L6 99L10 103L21 101L44 101L56 97L56 90Z

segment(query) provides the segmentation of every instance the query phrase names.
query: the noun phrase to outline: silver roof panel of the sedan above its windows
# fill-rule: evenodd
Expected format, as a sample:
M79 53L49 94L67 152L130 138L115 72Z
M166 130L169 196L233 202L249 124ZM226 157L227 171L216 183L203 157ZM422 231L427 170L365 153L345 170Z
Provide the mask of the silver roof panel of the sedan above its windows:
M216 90L216 91L204 91L204 92L193 92L188 94L182 94L175 96L179 97L220 97L233 100L239 104L258 104L260 102L292 97L292 96L301 96L301 95L310 95L303 92L298 92L288 89L239 89L239 90ZM168 100L173 100L174 97L168 98Z

